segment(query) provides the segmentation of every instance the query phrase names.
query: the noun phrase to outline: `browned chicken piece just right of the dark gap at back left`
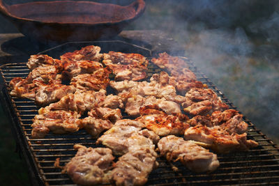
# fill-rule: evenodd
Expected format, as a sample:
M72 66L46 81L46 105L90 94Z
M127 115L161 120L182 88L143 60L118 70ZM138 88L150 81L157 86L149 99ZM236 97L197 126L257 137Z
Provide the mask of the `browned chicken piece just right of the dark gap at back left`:
M93 74L82 74L73 77L70 84L80 90L100 91L101 88L107 88L107 85L110 83L109 75L110 70L100 68L93 72Z

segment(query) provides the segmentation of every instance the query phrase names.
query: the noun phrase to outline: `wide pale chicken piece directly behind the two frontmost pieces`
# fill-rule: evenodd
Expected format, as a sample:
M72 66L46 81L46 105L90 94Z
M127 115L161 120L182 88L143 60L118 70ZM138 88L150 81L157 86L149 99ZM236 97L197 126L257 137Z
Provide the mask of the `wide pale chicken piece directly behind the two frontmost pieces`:
M152 139L144 137L146 135L139 133L142 127L144 127L144 124L139 121L128 119L117 121L110 130L107 130L97 140L97 144L103 144L111 148L115 155L123 155L139 148L154 150L153 136L155 134L147 135L147 137L152 137Z

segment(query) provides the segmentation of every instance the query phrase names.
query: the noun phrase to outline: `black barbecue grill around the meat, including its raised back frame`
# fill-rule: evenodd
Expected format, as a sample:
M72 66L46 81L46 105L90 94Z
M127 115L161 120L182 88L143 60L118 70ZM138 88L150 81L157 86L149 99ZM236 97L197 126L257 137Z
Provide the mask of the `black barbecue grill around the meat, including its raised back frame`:
M86 45L98 45L103 52L119 51L142 54L149 59L155 54L149 49L139 47L123 41L100 42L68 42L40 54L48 54L58 58L65 52L80 49ZM215 91L230 109L236 109L225 95L186 57L181 56L192 70L197 79ZM10 61L13 62L13 61ZM148 66L149 79L153 73L160 72L158 66L152 63ZM18 146L22 150L24 158L29 166L29 172L34 185L73 185L70 177L61 173L61 169L54 166L54 162L60 160L63 166L74 157L76 151L74 144L96 147L96 139L92 139L85 130L71 134L47 134L44 139L31 138L31 124L33 117L38 114L38 107L32 100L11 97L8 84L14 77L25 78L29 74L26 63L7 63L1 65L1 102L5 107L7 116L13 124L13 132ZM124 116L124 118L128 116ZM257 148L248 152L235 152L218 154L220 166L213 173L193 173L179 162L170 164L163 157L158 157L159 166L149 175L146 185L278 185L279 184L279 148L273 141L266 137L246 117L248 123L248 139L259 143ZM172 169L173 166L178 171Z

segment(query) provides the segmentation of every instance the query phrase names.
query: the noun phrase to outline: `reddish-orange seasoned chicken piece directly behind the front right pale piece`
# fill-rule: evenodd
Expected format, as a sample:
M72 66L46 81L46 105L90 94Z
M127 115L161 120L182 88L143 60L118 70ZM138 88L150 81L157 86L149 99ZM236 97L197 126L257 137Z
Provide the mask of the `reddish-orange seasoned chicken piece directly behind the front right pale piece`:
M144 114L147 114L144 111ZM146 128L152 130L160 137L170 134L184 134L184 131L190 126L186 121L188 117L184 114L149 114L140 116L137 121L145 124Z

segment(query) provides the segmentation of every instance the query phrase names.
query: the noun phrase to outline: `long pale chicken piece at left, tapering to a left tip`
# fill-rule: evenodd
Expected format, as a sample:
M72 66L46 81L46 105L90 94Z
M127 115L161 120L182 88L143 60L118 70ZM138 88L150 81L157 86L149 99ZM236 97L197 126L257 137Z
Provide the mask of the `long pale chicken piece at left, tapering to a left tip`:
M106 91L76 91L65 95L59 102L54 102L45 108L39 109L39 113L44 110L71 110L83 114L90 111L95 105L105 100Z

